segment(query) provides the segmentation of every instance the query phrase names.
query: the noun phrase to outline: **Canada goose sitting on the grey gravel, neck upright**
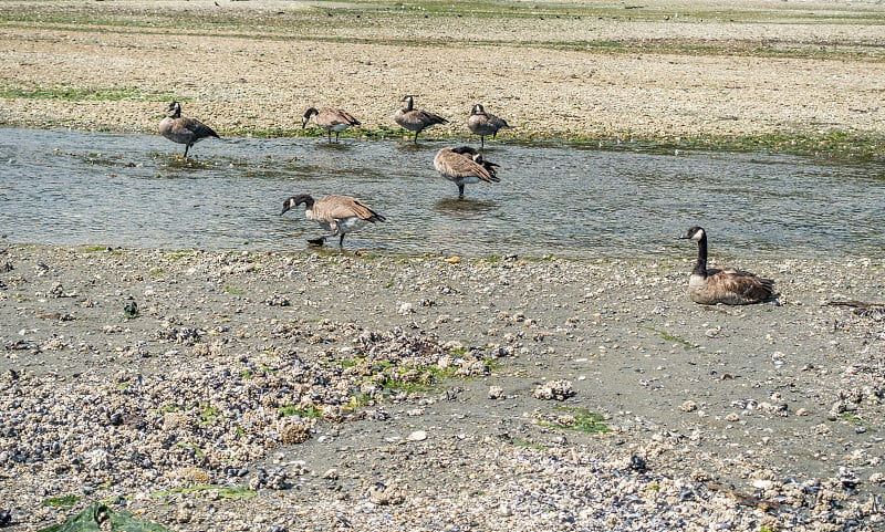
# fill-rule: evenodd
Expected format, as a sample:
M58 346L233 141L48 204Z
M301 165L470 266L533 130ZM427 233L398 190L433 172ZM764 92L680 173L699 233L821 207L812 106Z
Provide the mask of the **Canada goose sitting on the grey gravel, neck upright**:
M695 303L746 305L766 301L774 293L774 281L771 279L733 268L708 270L707 232L704 228L689 228L678 238L698 242L698 261L688 280L688 295Z

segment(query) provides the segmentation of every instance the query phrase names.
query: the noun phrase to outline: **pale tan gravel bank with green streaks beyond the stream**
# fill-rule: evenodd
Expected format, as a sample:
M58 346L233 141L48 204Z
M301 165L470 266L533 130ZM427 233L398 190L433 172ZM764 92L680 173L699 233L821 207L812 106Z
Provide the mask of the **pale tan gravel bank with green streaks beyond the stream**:
M12 20L17 6L6 8ZM873 2L756 2L729 14L717 2L650 2L627 15L542 3L509 19L102 2L104 23L91 27L95 8L30 6L43 22L4 28L0 122L155 132L164 102L178 98L185 114L228 134L300 134L304 109L334 105L363 122L354 134L398 136L392 115L415 94L451 119L431 136L467 137L476 102L514 124L503 136L513 139L740 146L750 137L780 148L864 145L870 155L883 136L882 7Z

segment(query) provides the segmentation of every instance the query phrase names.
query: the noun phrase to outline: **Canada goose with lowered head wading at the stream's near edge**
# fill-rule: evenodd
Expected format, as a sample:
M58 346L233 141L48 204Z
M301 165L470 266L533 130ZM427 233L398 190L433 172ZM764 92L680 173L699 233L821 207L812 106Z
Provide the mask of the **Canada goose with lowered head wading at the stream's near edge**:
M304 204L304 216L313 220L326 231L332 233L308 240L314 246L322 246L326 238L340 236L339 246L344 247L344 236L356 231L368 222L385 221L372 208L350 196L326 196L314 200L311 196L302 194L292 196L283 202L283 216L289 209L294 209Z

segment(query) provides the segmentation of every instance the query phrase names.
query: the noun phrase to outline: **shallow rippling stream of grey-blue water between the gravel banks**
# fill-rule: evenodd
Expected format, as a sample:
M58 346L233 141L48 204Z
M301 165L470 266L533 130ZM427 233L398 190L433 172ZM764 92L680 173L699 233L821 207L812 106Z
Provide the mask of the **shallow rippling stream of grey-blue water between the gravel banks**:
M156 135L0 128L0 232L12 242L303 250L322 230L295 194L346 194L387 217L348 234L383 253L568 258L711 254L879 257L885 168L766 155L649 154L492 143L499 184L433 167L452 143L226 138L191 148Z

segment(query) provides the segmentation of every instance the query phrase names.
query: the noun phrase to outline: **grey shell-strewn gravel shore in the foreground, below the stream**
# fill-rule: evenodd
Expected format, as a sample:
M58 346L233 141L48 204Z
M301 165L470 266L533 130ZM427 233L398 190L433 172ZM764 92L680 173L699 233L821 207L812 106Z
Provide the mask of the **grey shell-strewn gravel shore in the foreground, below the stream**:
M883 522L882 316L821 306L878 301L877 262L754 263L782 304L748 307L690 303L687 260L14 246L0 262L11 530L69 514L40 505L66 494L177 531ZM535 395L561 380L566 400ZM585 410L611 431L556 427Z

